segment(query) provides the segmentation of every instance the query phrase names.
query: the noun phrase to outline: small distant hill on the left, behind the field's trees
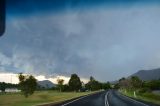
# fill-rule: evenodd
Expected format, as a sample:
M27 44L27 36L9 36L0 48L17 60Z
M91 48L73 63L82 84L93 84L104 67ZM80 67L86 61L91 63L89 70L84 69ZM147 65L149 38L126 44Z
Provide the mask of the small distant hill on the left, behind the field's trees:
M44 87L44 88L52 88L56 86L54 83L52 83L49 80L38 81L37 83L39 86Z

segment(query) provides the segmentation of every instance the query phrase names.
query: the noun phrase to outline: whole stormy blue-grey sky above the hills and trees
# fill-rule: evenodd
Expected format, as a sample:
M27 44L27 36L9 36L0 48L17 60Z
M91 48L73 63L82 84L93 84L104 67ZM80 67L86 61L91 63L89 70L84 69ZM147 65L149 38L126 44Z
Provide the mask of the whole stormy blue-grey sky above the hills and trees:
M159 2L35 1L7 2L0 73L112 81L160 67Z

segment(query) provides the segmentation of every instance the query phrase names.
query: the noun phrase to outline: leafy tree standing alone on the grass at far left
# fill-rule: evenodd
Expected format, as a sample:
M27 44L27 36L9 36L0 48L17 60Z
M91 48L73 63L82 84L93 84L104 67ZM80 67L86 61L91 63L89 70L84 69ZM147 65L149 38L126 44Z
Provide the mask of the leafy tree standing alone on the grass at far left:
M19 86L21 92L25 97L32 95L37 87L37 81L32 75L23 75L20 73L18 75L19 78Z

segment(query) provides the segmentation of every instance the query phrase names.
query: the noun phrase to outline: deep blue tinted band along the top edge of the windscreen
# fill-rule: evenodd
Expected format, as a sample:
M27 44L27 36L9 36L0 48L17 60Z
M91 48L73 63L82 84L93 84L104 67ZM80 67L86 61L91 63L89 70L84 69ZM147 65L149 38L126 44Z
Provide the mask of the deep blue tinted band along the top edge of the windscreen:
M134 4L157 4L157 0L7 0L7 10L12 15L31 15L42 12L89 9L100 6L109 8L132 6Z

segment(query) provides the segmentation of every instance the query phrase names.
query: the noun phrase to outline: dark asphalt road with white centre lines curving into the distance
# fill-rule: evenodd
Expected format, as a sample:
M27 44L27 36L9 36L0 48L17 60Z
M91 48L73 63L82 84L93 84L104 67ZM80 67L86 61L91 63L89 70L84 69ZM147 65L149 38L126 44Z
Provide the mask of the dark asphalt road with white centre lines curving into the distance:
M103 91L61 104L59 106L151 106L128 98L115 90Z

